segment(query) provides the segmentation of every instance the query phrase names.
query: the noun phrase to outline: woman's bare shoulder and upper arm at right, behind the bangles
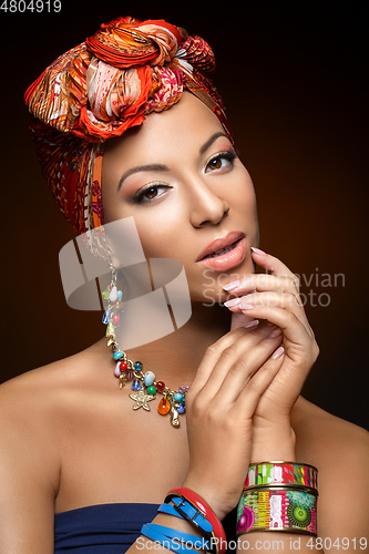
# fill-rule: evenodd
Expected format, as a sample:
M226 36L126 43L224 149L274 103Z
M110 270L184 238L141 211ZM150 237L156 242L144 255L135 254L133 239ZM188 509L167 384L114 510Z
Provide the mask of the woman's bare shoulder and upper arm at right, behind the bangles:
M319 472L319 536L353 542L367 537L369 432L303 398L294 408L293 424L298 461Z

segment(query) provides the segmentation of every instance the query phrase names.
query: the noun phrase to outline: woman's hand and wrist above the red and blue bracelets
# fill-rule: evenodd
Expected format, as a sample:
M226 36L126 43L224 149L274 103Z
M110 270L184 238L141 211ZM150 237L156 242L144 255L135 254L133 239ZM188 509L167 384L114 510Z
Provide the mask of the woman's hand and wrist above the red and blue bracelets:
M186 394L189 470L184 486L222 520L237 504L252 455L253 416L278 370L275 326L238 328L211 346Z

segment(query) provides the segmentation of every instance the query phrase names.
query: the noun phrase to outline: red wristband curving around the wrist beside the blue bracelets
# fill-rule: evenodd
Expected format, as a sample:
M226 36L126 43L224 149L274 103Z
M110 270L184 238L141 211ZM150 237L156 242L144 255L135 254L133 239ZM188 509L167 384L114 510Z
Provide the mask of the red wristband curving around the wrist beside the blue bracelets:
M201 514L205 516L205 519L212 526L212 531L207 532L204 530L205 533L207 533L208 536L213 538L212 544L215 544L216 552L218 554L225 554L227 550L227 537L224 532L223 525L213 512L212 507L204 501L204 499L202 499L202 496L199 496L199 494L197 494L196 492L192 491L191 489L186 489L185 486L177 486L175 489L172 489L167 493L165 502L167 503L175 497L187 501L195 509L196 513L199 511ZM182 517L196 525L194 517L187 515L186 511L183 510L182 503L178 503L178 505L177 503L175 503L174 509L181 514Z

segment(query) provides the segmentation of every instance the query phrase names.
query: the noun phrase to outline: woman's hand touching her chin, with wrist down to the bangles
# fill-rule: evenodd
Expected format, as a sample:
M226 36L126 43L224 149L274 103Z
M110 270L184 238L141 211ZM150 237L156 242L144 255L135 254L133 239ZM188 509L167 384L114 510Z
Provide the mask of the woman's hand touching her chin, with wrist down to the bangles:
M277 325L283 332L281 366L263 393L254 414L252 461L290 459L294 432L290 412L319 349L299 297L298 278L277 258L253 252L267 274L246 275L232 294L240 297L230 306L237 321L247 316Z

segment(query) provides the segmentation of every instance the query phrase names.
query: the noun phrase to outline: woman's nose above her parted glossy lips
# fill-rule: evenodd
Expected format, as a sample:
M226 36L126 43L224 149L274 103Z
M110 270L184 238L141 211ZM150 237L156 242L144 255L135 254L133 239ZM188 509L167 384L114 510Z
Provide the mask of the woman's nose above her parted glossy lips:
M191 223L194 227L217 225L228 215L229 205L201 178L191 186Z

